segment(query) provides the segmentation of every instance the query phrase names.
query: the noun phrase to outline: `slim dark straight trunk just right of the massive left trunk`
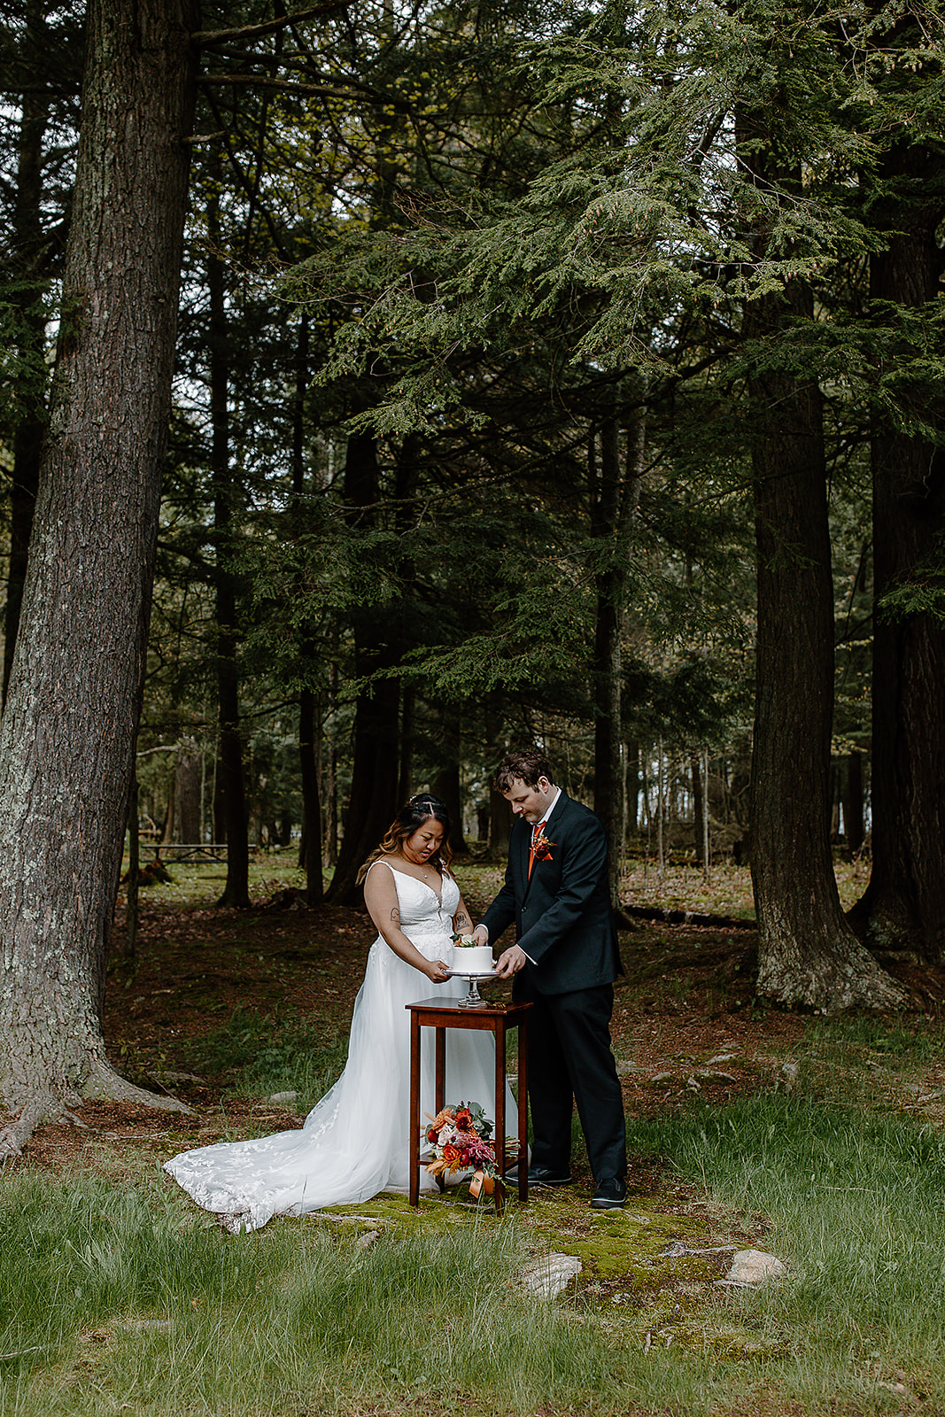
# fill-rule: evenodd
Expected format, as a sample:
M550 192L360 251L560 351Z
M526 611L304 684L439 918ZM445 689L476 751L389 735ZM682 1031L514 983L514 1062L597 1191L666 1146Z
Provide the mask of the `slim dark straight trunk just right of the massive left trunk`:
M220 177L220 156L214 156ZM232 553L234 486L230 473L230 351L225 283L220 235L220 181L211 188L207 207L210 256L210 421L213 428L211 475L214 487L214 546L217 551L217 701L220 752L217 796L227 843L227 881L218 905L245 910L249 905L249 830L239 731L239 669L237 646L237 577L230 565Z

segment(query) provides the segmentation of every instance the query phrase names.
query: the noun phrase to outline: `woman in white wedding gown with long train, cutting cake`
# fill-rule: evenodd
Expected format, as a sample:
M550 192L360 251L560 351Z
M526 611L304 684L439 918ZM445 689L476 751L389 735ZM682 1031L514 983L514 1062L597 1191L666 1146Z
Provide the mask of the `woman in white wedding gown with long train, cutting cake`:
M354 1000L347 1064L303 1127L245 1142L180 1152L164 1170L228 1230L256 1230L272 1216L300 1216L322 1206L370 1200L409 1183L409 1016L426 981L443 998L465 992L451 978L452 934L468 931L469 913L449 873L449 816L421 794L398 812L358 880L380 934ZM422 976L422 978L421 978ZM421 1115L434 1112L434 1053L421 1030ZM493 1101L494 1039L453 1029L446 1047L446 1100ZM516 1102L506 1084L506 1111ZM494 1117L494 1111L492 1114ZM434 1180L424 1172L424 1189Z

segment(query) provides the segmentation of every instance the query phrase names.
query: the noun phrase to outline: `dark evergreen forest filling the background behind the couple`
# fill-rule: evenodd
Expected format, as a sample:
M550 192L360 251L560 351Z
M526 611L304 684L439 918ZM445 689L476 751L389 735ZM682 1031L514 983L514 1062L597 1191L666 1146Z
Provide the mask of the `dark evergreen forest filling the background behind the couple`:
M120 139L81 102L108 24L0 10L6 700L77 290L120 241L79 135ZM615 905L628 852L749 856L759 992L901 998L883 962L945 944L941 41L878 0L204 4L115 815L225 842L224 904L251 845L349 903L419 786L500 859L489 775L538 741ZM849 918L837 847L871 849Z

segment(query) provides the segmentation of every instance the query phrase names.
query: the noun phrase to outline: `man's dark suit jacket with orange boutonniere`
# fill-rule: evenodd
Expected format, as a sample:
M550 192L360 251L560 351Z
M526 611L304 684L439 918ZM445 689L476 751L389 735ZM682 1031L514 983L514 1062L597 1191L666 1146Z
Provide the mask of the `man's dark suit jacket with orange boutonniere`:
M621 956L611 911L606 835L589 808L564 792L544 835L551 860L536 860L528 880L531 825L516 818L506 883L483 915L489 939L514 921L516 941L540 993L571 993L613 983Z

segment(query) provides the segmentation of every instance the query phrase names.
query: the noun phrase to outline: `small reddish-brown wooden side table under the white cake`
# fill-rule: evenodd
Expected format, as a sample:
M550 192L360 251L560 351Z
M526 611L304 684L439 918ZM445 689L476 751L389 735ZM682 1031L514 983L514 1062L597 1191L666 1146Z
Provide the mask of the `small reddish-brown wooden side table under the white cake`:
M408 1003L411 1016L411 1100L409 1100L409 1203L419 1204L419 1138L424 1118L419 1115L419 1030L436 1030L435 1041L435 1105L434 1115L443 1107L446 1090L446 1029L476 1029L492 1033L496 1039L496 1166L499 1175L506 1170L506 1033L519 1029L519 1200L528 1199L528 1009L530 1003L486 1003L476 1009L463 1007L451 999L421 999ZM463 1102L480 1102L477 1097L456 1098ZM503 1187L496 1186L496 1214L502 1214Z

